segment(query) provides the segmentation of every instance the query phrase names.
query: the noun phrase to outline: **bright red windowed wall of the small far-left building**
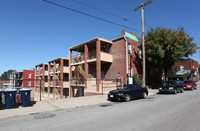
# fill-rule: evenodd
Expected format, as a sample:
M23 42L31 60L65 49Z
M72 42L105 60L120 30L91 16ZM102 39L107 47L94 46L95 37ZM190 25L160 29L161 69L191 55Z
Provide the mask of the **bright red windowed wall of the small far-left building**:
M29 73L31 73L31 77L29 78ZM29 88L35 86L35 69L34 70L23 70L23 87ZM31 85L28 85L28 82L31 81Z

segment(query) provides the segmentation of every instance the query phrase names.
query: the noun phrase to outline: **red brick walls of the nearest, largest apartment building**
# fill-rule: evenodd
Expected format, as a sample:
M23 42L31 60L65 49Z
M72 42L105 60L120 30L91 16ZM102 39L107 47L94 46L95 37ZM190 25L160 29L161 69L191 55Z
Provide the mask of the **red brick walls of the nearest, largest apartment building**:
M122 32L122 34L124 31ZM136 34L134 34L136 35ZM140 43L126 38L128 43L132 47L132 57L128 55L128 67L132 68L133 76L138 74L141 77L142 74L142 59L139 58L138 52ZM111 64L108 72L105 75L105 79L116 79L117 73L120 72L122 83L127 82L127 71L126 71L126 41L124 38L115 41L110 49L110 53L113 55L113 63Z

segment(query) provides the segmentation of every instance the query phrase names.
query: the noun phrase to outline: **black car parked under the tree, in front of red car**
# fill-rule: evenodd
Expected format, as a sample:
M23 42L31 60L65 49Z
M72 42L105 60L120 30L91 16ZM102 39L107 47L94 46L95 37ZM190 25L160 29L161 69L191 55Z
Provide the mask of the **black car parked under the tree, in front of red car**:
M183 93L184 88L183 88L183 82L179 80L170 80L164 82L162 87L159 88L159 93Z

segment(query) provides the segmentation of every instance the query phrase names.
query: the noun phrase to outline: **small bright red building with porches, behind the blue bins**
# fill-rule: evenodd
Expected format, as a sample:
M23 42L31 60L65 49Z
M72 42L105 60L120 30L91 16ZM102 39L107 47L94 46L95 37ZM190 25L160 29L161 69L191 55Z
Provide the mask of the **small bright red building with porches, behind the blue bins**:
M16 71L12 73L10 83L13 87L34 88L35 69Z

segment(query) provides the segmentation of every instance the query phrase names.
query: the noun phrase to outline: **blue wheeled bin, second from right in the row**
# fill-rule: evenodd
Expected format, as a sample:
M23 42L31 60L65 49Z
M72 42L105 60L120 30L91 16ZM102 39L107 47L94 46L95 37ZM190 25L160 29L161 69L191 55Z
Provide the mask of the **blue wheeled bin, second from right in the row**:
M16 103L15 97L16 97L16 89L5 89L3 90L5 95L5 108L11 109L12 106Z

